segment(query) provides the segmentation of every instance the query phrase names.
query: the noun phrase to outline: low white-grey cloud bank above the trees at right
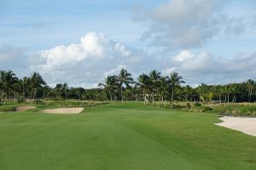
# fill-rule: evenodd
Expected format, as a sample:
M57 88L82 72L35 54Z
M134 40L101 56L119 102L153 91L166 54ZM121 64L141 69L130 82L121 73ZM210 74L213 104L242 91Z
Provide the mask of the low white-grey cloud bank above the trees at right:
M242 82L248 78L256 79L256 53L237 54L232 58L216 57L210 53L193 54L183 50L172 57L172 71L183 75L186 82L196 84ZM168 70L165 69L163 71Z

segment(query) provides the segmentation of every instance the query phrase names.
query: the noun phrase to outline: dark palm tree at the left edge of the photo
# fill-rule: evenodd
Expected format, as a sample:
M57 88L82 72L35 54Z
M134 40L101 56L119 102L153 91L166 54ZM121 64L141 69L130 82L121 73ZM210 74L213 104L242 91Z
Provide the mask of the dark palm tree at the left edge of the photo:
M1 71L0 75L0 82L2 83L3 91L5 90L5 93L9 99L11 90L15 89L15 83L19 81L18 77L16 77L13 71Z

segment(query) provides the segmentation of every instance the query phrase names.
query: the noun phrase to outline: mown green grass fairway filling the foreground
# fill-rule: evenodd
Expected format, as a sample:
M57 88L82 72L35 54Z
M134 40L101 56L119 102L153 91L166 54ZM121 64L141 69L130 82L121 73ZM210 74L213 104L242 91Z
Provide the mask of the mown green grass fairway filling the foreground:
M0 169L256 169L256 137L214 122L137 103L0 113Z

